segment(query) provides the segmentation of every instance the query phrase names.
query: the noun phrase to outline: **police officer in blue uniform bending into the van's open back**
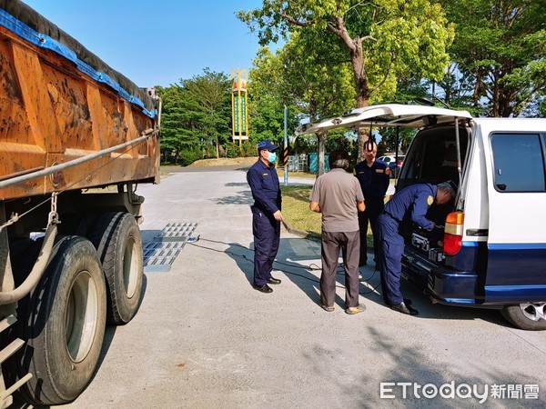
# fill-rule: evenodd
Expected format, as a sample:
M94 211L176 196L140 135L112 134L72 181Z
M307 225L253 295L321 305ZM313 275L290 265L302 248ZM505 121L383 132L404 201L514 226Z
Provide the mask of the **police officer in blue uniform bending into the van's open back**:
M449 203L455 197L456 191L457 187L452 181L440 185L410 185L394 195L379 215L377 230L381 290L385 303L391 309L402 314L419 314L410 307L410 300L404 299L400 292L404 252L404 238L400 234L402 224L414 223L423 229L432 230L434 222L425 217L430 205Z

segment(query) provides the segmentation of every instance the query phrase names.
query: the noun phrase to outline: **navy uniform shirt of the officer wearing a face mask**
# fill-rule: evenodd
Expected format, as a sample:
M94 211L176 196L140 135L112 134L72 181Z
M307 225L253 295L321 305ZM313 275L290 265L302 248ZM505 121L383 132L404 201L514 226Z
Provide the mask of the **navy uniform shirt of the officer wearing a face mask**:
M247 182L252 190L254 205L266 214L280 210L280 185L275 165L266 165L260 159L248 169Z

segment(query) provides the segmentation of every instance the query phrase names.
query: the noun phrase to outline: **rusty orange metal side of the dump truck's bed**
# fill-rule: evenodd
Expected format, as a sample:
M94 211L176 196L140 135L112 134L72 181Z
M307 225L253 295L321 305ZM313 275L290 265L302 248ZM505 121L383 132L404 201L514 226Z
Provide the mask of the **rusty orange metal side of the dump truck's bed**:
M0 180L120 145L154 128L153 118L76 70L53 51L0 26ZM0 189L0 200L54 191L153 182L157 135L21 185Z

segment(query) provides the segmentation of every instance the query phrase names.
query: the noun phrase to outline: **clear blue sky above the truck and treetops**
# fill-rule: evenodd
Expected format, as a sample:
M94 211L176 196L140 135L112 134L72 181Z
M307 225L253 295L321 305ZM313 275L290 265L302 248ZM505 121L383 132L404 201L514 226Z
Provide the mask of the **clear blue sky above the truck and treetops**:
M261 0L23 0L142 87L175 84L208 67L250 68L258 35L236 16Z

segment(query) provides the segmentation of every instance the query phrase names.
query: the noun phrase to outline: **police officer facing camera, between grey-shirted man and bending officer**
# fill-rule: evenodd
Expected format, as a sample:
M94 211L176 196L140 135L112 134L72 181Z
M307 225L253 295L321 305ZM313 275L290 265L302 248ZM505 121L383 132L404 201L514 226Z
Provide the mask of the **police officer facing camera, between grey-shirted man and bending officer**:
M378 240L376 233L376 222L379 214L383 212L385 195L389 189L389 165L376 159L378 154L378 145L369 140L364 145L364 157L362 162L355 166L355 175L359 179L366 211L359 213L359 231L360 231L360 261L359 266L366 265L368 262L368 244L366 235L368 234L368 223L371 226L373 235L373 260L378 259Z

